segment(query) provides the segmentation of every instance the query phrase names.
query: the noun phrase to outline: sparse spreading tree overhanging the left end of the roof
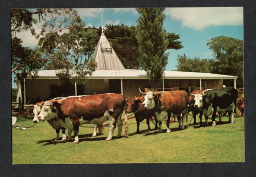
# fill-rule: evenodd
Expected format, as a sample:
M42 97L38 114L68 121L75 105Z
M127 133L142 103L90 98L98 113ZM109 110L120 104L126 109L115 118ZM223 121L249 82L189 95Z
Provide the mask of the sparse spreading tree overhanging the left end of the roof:
M12 52L12 73L18 75L22 72L24 78L27 75L36 77L40 68L48 63L52 63L51 65L55 68L64 68L65 72L58 74L61 79L68 79L70 77L68 71L73 69L77 78L79 77L81 80L84 80L86 75L91 75L95 70L96 63L88 59L88 57L81 56L81 54L90 56L91 53L88 53L88 50L85 52L85 49L90 48L91 46L89 45L94 43L85 44L84 40L79 41L81 38L79 36L82 34L75 34L75 28L80 29L81 26L84 28L84 24L77 15L76 10L71 8L40 8L34 11L12 9L11 14L13 39L16 33L24 30L31 31L32 35L40 39L36 48L30 50L29 57L19 55L18 58ZM38 23L42 25L42 29L39 33L36 33L33 25ZM69 34L62 35L64 32L68 33L69 31ZM93 33L93 31L91 32ZM65 45L61 45L61 39L64 39ZM67 41L70 43L67 43ZM75 41L76 43L74 43ZM12 48L16 48L14 42L17 43L18 40L12 40ZM19 47L24 51L28 51L21 44ZM21 51L21 49L19 50Z

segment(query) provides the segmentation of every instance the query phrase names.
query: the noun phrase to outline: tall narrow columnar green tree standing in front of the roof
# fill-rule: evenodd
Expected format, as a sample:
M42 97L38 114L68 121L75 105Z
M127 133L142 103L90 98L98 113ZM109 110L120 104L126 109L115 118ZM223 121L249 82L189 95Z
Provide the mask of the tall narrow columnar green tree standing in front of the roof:
M160 83L168 63L168 38L163 29L165 8L136 8L141 15L137 19L136 38L138 61L146 71L149 83L155 89Z

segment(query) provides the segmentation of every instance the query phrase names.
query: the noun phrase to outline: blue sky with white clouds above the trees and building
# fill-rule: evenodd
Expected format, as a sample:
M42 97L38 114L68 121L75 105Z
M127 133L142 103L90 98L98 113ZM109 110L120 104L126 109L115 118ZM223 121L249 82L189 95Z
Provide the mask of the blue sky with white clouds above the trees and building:
M77 8L86 26L99 27L101 15L104 24L137 25L139 14L135 8ZM243 40L243 8L166 8L164 28L167 32L180 34L183 48L168 50L169 60L166 70L175 70L178 55L186 54L201 59L212 58L206 43L210 38L225 35ZM35 26L36 31L40 25ZM37 40L29 33L22 32L17 37L23 46L35 48Z

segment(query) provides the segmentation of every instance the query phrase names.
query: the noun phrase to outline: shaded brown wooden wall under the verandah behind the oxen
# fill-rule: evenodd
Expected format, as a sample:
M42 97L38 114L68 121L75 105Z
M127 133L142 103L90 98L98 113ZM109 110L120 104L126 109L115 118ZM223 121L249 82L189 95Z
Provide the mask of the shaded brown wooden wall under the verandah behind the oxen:
M205 83L206 82L206 83ZM55 87L61 86L63 83L59 79L27 79L26 80L26 93L27 100L42 101L55 96L69 96L66 93L52 93L53 85ZM221 88L223 85L222 79L202 79L202 89L208 88ZM121 93L121 80L120 79L89 79L88 84L77 85L78 95L86 94L100 94L100 93ZM179 87L196 87L200 90L199 79L165 79L165 88L172 88L170 90L179 90ZM82 88L83 87L83 88ZM123 95L125 97L134 97L139 94L139 87L142 92L146 92L145 88L150 88L147 79L123 79ZM70 94L74 95L74 81L71 80L69 88ZM162 84L159 86L162 90ZM53 96L54 95L54 96Z

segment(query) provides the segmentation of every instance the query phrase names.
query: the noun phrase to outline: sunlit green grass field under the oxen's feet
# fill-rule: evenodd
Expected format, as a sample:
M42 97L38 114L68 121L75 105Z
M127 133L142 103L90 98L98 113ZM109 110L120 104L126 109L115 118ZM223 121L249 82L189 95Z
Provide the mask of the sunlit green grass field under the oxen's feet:
M189 117L189 120L191 117ZM217 119L218 120L218 119ZM204 119L203 119L204 121ZM136 120L129 120L129 137L105 141L104 135L91 137L92 128L80 127L79 144L55 141L55 130L47 123L40 122L26 130L12 128L13 164L66 164L66 163L180 163L180 162L243 162L244 118L235 118L229 124L228 117L216 127L191 125L178 130L172 123L171 133L147 132L146 120L136 132ZM197 120L199 122L199 120ZM32 125L32 121L18 122L20 126ZM93 126L93 125L83 125ZM67 134L67 133L66 133ZM61 136L61 133L60 133ZM72 138L74 138L72 136ZM73 141L73 139L72 139Z

